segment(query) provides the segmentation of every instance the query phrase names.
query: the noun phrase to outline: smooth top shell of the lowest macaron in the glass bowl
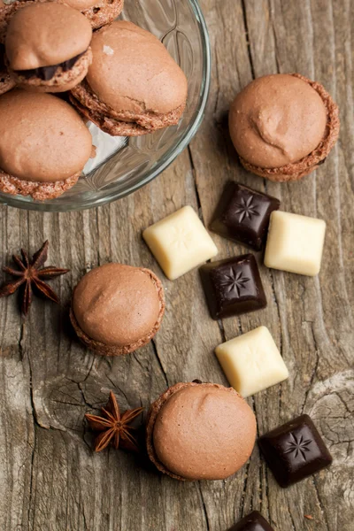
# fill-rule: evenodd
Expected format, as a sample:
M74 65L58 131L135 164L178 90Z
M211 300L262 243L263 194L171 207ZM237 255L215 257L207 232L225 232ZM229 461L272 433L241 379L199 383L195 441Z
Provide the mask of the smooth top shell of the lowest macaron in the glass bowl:
M24 181L63 181L89 160L92 137L69 104L14 89L0 96L0 169Z

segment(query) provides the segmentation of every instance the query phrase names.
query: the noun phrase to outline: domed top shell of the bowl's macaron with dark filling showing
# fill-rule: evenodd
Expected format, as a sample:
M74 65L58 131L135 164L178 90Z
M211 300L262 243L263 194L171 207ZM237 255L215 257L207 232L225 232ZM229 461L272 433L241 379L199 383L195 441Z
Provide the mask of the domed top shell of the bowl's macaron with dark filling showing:
M65 4L30 4L15 12L5 48L12 70L58 65L89 48L92 28L81 12Z

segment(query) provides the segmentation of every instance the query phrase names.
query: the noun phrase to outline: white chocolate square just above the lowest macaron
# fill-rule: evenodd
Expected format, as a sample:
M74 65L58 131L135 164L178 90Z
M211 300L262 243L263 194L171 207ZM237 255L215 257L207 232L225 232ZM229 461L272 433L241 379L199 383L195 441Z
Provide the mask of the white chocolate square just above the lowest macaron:
M227 380L244 398L289 378L289 372L267 327L224 342L216 348Z

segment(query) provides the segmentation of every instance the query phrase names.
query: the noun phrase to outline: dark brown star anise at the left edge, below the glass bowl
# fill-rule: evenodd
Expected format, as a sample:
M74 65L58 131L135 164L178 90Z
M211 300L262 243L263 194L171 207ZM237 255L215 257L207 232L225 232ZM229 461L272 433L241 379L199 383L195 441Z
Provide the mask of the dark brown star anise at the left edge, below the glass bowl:
M27 315L32 303L34 288L51 301L57 304L59 302L58 295L44 280L54 279L61 274L68 273L69 269L59 269L54 266L42 267L48 258L48 247L49 242L47 240L42 244L41 249L35 252L32 260L28 258L26 250L21 249L22 258L16 255L12 256L12 260L19 269L3 267L3 271L16 277L16 280L6 282L1 286L0 297L12 295L20 288L20 307L24 315Z

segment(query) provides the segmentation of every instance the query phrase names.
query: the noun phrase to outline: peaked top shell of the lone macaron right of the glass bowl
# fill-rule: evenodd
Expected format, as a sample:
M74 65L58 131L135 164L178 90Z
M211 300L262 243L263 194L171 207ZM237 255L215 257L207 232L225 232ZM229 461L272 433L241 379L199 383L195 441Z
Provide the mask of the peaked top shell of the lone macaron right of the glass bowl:
M327 110L319 93L291 74L252 81L230 108L229 129L245 161L262 168L288 165L309 155L325 136Z

